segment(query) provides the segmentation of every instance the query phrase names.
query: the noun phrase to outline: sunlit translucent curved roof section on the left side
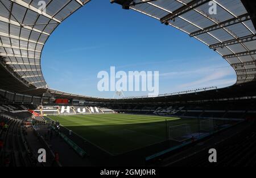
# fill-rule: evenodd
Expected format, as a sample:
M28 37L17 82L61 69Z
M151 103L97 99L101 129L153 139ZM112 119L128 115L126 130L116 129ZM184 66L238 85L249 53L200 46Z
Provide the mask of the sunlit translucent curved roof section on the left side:
M5 57L3 63L11 73L36 88L47 87L40 57L49 35L89 0L45 0L45 8L42 2L0 1L0 56Z

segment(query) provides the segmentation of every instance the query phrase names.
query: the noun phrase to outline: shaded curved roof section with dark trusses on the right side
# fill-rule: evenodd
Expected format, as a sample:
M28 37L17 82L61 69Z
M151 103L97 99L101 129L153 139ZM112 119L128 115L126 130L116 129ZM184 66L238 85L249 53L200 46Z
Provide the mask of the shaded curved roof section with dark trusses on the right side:
M135 0L134 4L124 0L112 2L119 3L123 9L151 16L208 45L235 69L237 84L255 80L256 31L251 20L255 14L250 15L246 10L246 1L245 5L240 0ZM209 13L212 2L217 7L216 14Z

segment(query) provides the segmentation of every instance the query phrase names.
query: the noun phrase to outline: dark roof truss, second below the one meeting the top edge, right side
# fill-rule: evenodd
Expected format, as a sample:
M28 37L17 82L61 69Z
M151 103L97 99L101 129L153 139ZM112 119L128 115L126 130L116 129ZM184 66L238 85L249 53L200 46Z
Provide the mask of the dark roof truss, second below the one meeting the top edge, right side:
M248 13L240 15L237 18L235 17L235 18L226 20L224 22L214 24L213 26L204 28L203 30L198 30L198 31L192 32L189 36L196 36L196 35L204 34L206 32L210 32L210 31L217 30L220 28L225 28L225 27L231 26L233 24L245 22L246 20L250 20L250 15Z

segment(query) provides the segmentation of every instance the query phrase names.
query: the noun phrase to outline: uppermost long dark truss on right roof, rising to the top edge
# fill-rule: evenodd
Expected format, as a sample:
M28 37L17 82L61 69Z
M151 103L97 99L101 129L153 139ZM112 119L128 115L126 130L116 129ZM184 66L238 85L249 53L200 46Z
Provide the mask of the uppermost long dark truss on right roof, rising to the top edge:
M190 11L191 9L195 9L196 7L199 7L207 2L209 2L210 0L193 0L189 3L187 3L187 5L181 6L179 9L173 11L170 14L167 14L166 16L164 16L163 18L160 19L160 21L162 23L166 23L171 19L174 19L177 16L180 16L184 13L187 13L188 11Z

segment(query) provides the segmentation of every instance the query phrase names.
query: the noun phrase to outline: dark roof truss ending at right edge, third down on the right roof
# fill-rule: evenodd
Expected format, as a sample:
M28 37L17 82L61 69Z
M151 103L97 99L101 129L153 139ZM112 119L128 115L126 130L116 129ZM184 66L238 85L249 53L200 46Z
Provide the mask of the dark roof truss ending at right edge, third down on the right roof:
M253 40L256 40L256 35L248 35L248 36L243 36L239 39L233 39L233 40L227 40L222 43L216 43L212 44L209 46L210 49L216 49L220 47L225 47L226 45L232 45L232 44L238 44L238 43L245 43L245 42L251 42Z

